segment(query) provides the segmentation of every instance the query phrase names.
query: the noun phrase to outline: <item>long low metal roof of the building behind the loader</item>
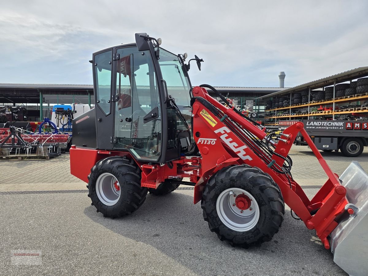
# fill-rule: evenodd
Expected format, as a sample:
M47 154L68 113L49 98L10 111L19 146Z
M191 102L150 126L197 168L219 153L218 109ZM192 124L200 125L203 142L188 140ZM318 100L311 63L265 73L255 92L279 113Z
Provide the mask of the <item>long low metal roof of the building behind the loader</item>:
M91 84L0 84L0 89L69 89L69 90L93 90ZM232 87L215 86L218 91L226 92L277 92L287 88L280 87ZM210 90L210 89L208 89Z

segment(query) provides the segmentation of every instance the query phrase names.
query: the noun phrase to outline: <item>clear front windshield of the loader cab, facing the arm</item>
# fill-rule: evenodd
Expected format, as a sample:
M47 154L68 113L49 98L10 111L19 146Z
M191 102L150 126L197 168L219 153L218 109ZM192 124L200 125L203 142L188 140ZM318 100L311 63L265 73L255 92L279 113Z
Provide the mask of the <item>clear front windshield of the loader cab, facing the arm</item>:
M160 48L159 64L162 77L167 84L167 93L175 99L185 121L191 125L190 82L179 57Z

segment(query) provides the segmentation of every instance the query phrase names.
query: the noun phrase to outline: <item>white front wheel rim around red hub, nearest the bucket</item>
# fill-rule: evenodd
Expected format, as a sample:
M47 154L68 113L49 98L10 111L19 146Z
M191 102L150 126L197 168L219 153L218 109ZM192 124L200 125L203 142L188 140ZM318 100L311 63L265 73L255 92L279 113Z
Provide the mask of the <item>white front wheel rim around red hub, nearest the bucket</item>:
M249 208L245 210L238 208L236 198L239 195L245 195L250 199ZM224 190L217 198L216 211L221 222L226 227L238 232L249 231L256 226L260 213L255 198L249 192L240 188Z

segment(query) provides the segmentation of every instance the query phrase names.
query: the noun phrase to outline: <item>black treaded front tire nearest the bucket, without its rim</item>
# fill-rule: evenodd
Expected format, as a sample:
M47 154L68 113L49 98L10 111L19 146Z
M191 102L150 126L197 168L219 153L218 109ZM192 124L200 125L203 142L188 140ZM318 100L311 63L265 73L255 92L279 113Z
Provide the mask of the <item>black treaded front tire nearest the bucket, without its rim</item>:
M232 187L250 192L257 201L260 216L251 230L244 232L231 230L217 215L217 198L222 191ZM284 199L279 186L269 174L245 164L229 166L217 171L204 188L201 208L209 229L215 232L220 240L245 248L270 241L279 231L285 213Z

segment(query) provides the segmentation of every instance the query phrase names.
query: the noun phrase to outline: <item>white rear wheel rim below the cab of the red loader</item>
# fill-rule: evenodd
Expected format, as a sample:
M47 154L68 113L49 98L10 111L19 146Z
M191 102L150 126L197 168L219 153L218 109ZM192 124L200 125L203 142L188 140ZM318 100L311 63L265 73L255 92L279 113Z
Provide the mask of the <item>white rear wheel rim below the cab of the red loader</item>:
M118 190L117 188L118 187ZM120 184L111 173L102 173L96 181L98 199L107 206L112 206L120 198Z

